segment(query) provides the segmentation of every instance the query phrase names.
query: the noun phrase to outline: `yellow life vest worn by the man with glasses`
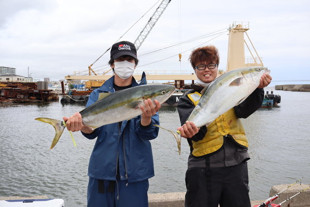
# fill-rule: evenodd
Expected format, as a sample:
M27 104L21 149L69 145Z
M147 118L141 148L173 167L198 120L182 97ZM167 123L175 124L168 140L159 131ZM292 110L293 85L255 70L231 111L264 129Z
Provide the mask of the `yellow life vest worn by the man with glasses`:
M199 95L199 97L201 96L198 92L187 95L195 106L199 102L199 99L197 100L197 95ZM197 142L192 141L192 154L199 157L217 151L224 143L224 136L228 134L233 137L235 142L248 147L248 139L245 130L234 109L230 109L218 116L207 127L207 133L202 140Z

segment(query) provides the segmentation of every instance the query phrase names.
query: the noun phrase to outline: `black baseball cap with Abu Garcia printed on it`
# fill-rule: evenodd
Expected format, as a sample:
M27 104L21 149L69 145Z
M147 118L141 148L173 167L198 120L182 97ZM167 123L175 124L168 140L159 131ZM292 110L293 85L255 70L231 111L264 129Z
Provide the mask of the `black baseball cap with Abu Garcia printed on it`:
M130 55L138 59L135 45L128 41L121 41L112 45L110 58L115 60L123 55Z

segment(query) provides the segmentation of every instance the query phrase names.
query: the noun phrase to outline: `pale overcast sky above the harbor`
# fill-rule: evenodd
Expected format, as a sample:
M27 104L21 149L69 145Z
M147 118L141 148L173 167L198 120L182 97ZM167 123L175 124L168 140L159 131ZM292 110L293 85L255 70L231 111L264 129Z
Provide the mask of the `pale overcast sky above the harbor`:
M0 0L0 66L14 67L21 76L28 76L29 66L31 76L40 80L60 80L74 71L86 71L156 2ZM156 7L121 40L134 42ZM199 45L215 45L221 58L219 69L226 70L227 29L234 21L245 21L274 80L310 80L309 11L309 0L171 0L141 45L138 58L147 51L223 33L142 56L137 70L191 71L187 59ZM108 61L109 52L93 68L100 69Z

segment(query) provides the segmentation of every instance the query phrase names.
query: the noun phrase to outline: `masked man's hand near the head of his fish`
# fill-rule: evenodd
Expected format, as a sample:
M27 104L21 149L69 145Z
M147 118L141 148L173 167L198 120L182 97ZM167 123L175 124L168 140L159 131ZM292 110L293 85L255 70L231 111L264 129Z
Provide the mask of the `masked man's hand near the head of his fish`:
M159 101L156 99L154 100L154 104L152 103L152 100L148 98L147 100L144 101L145 107L143 105L140 106L140 109L142 111L141 114L141 125L142 126L148 126L152 119L151 117L156 114L156 112L160 109L161 105Z

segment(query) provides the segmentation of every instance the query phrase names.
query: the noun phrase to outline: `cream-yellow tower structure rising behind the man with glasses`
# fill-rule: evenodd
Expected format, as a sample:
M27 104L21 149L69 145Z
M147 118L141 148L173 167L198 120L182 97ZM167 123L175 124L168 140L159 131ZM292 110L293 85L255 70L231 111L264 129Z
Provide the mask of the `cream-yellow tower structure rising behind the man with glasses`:
M229 29L228 55L227 55L227 71L248 66L263 66L262 59L257 54L251 40L248 37L249 22L233 22ZM244 38L246 33L257 57L253 56L247 42ZM251 57L245 57L245 45L247 46Z

